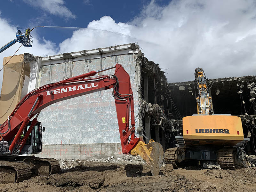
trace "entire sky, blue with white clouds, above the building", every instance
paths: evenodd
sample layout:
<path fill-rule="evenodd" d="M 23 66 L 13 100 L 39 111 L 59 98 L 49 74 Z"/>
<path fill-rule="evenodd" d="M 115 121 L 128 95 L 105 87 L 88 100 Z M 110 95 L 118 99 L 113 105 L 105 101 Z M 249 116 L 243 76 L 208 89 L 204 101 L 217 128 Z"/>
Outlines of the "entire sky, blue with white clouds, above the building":
<path fill-rule="evenodd" d="M 0 46 L 15 38 L 17 27 L 82 27 L 36 28 L 33 47 L 22 46 L 17 54 L 55 55 L 137 42 L 169 82 L 193 80 L 197 67 L 208 78 L 255 75 L 255 10 L 254 0 L 5 0 Z M 0 63 L 19 46 L 0 53 Z"/>

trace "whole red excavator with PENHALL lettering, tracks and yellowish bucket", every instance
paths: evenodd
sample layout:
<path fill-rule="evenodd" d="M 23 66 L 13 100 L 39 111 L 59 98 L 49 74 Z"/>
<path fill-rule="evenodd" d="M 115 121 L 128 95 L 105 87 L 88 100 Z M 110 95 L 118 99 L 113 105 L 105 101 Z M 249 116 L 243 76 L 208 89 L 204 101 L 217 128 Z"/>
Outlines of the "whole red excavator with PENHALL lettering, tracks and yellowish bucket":
<path fill-rule="evenodd" d="M 116 68 L 114 75 L 95 76 L 112 68 Z M 130 76 L 120 64 L 116 64 L 57 83 L 46 84 L 29 92 L 18 103 L 12 114 L 0 126 L 0 182 L 15 183 L 29 179 L 33 175 L 60 172 L 60 165 L 56 159 L 20 156 L 42 151 L 42 132 L 45 128 L 37 121 L 40 111 L 62 100 L 111 88 L 116 103 L 122 152 L 133 156 L 140 155 L 148 164 L 152 175 L 158 175 L 163 162 L 163 147 L 153 140 L 145 144 L 143 138 L 137 138 L 134 134 L 134 104 Z"/>

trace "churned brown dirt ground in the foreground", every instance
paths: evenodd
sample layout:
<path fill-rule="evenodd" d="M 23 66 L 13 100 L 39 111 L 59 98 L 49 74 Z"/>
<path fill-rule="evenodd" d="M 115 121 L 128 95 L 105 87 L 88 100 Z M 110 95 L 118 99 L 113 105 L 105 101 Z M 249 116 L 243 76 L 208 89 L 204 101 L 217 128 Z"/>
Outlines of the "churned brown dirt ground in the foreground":
<path fill-rule="evenodd" d="M 188 167 L 170 170 L 162 166 L 160 175 L 150 176 L 141 164 L 77 162 L 62 174 L 36 176 L 20 183 L 2 184 L 2 192 L 80 191 L 177 191 L 251 192 L 256 191 L 256 168 L 221 170 Z"/>

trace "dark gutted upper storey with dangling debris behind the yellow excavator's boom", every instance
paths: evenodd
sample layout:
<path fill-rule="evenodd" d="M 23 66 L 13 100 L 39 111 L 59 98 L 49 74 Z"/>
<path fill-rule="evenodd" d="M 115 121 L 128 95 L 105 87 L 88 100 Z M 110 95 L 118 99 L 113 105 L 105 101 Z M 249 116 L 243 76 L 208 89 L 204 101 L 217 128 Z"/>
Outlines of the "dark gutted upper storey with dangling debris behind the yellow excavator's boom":
<path fill-rule="evenodd" d="M 228 77 L 209 79 L 206 81 L 213 100 L 215 114 L 242 115 L 255 114 L 256 107 L 252 98 L 255 98 L 255 76 Z M 175 103 L 172 108 L 173 119 L 196 114 L 196 99 L 198 95 L 197 84 L 194 81 L 168 84 L 170 96 Z M 254 96 L 254 97 L 253 97 Z"/>

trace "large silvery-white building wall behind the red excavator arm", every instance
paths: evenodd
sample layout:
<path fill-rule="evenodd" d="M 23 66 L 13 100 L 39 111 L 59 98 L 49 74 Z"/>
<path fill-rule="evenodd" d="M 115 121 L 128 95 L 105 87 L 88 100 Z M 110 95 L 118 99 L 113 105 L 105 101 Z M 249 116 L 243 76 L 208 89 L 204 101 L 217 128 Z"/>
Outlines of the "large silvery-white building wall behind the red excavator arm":
<path fill-rule="evenodd" d="M 115 53 L 104 58 L 85 58 L 84 60 L 73 62 L 71 59 L 66 60 L 66 62 L 61 60 L 61 63 L 56 63 L 55 61 L 54 64 L 50 61 L 50 65 L 45 65 L 49 64 L 49 62 L 39 62 L 38 65 L 41 67 L 38 73 L 37 87 L 57 82 L 67 77 L 84 74 L 88 72 L 88 69 L 92 71 L 107 68 L 115 65 L 116 62 L 123 65 L 130 75 L 136 115 L 139 103 L 137 92 L 137 79 L 139 77 L 137 72 L 135 76 L 135 71 L 139 70 L 136 64 L 136 53 L 124 55 Z M 114 74 L 114 71 L 115 69 L 111 69 L 103 72 L 102 75 Z M 112 89 L 55 103 L 42 110 L 38 120 L 45 127 L 45 132 L 43 132 L 45 150 L 51 148 L 52 145 L 57 146 L 60 144 L 63 146 L 69 145 L 71 148 L 79 148 L 77 145 L 70 144 L 99 144 L 101 146 L 103 143 L 120 143 Z M 97 146 L 95 145 L 95 148 Z M 71 149 L 70 151 L 74 150 Z M 75 156 L 80 155 L 76 149 L 75 151 Z M 103 151 L 103 154 L 107 153 L 105 147 Z"/>

